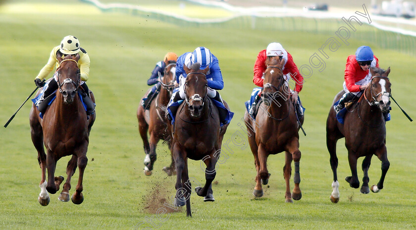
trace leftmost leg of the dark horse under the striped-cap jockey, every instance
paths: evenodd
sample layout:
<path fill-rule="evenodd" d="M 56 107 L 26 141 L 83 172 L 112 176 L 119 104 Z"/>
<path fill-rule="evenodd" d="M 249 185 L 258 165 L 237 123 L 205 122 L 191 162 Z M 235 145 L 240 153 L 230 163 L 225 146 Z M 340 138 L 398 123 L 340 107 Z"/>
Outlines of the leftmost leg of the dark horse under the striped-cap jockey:
<path fill-rule="evenodd" d="M 176 167 L 175 205 L 178 207 L 182 207 L 186 204 L 186 199 L 184 197 L 184 194 L 186 194 L 186 189 L 182 185 L 182 172 L 185 169 L 185 160 L 183 159 L 181 150 L 177 144 L 173 145 L 172 153 L 175 159 Z"/>

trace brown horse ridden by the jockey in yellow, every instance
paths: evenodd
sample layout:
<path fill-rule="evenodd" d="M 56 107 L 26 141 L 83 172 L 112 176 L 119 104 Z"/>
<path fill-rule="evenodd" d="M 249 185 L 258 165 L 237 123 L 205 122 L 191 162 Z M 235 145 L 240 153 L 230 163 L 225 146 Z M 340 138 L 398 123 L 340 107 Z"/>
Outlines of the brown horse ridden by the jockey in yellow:
<path fill-rule="evenodd" d="M 84 201 L 82 179 L 88 162 L 86 154 L 89 134 L 96 118 L 94 113 L 87 119 L 81 99 L 77 96 L 81 80 L 77 63 L 79 55 L 75 58 L 69 55 L 63 59 L 57 55 L 57 59 L 60 64 L 55 73 L 58 83 L 55 102 L 47 109 L 43 119 L 39 117 L 39 111 L 35 105 L 32 106 L 29 116 L 32 142 L 38 151 L 38 161 L 42 170 L 41 193 L 38 200 L 43 206 L 47 206 L 50 202 L 48 192 L 55 194 L 64 179 L 63 176 L 54 177 L 56 162 L 60 158 L 70 155 L 72 158 L 66 167 L 67 179 L 58 199 L 69 201 L 71 177 L 78 166 L 78 184 L 71 200 L 74 204 L 81 204 Z M 90 95 L 95 102 L 91 91 Z M 45 154 L 44 144 L 47 154 Z M 47 169 L 48 181 L 46 181 Z"/>

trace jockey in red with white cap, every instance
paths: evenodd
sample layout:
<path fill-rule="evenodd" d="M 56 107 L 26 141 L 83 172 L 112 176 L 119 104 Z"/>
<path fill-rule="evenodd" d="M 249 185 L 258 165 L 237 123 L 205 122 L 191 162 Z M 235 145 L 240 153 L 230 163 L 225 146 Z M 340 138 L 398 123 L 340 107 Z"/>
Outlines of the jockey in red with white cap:
<path fill-rule="evenodd" d="M 291 101 L 293 103 L 298 101 L 298 94 L 301 92 L 303 87 L 303 76 L 299 72 L 298 67 L 296 66 L 295 62 L 293 61 L 292 55 L 290 55 L 285 49 L 283 49 L 280 43 L 270 43 L 265 50 L 260 51 L 259 55 L 257 56 L 256 62 L 254 64 L 254 77 L 253 82 L 255 85 L 259 87 L 263 87 L 263 80 L 264 80 L 264 71 L 266 70 L 266 60 L 279 56 L 280 59 L 284 58 L 285 63 L 283 65 L 283 74 L 286 81 L 289 78 L 293 78 L 295 80 L 295 90 L 292 91 Z M 249 111 L 250 115 L 256 116 L 255 110 L 257 110 L 256 105 L 260 100 L 260 93 L 257 95 L 252 109 Z M 297 104 L 300 106 L 300 104 Z M 303 110 L 298 108 L 298 112 L 300 115 L 303 115 Z"/>

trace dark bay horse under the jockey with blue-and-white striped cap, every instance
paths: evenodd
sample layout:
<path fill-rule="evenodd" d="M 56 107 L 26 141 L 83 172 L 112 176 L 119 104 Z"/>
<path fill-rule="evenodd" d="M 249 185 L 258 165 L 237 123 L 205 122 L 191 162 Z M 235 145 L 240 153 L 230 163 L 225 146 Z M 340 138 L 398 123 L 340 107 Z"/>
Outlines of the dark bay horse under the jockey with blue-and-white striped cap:
<path fill-rule="evenodd" d="M 220 127 L 218 109 L 207 96 L 206 75 L 209 67 L 200 70 L 200 63 L 197 62 L 191 68 L 186 65 L 183 68 L 187 74 L 185 102 L 179 106 L 174 124 L 168 123 L 168 130 L 172 133 L 171 151 L 177 172 L 175 204 L 186 204 L 186 216 L 192 216 L 188 158 L 206 164 L 206 183 L 203 187 L 196 187 L 195 191 L 205 197 L 204 201 L 214 201 L 211 183 L 215 178 L 215 164 L 229 123 Z M 225 102 L 224 105 L 229 109 Z"/>

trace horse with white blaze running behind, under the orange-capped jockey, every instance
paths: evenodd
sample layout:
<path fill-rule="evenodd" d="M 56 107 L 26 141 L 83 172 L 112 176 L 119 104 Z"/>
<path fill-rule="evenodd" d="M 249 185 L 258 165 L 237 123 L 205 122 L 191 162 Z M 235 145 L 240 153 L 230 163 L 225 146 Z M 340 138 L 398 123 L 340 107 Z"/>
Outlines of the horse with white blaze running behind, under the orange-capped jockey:
<path fill-rule="evenodd" d="M 139 133 L 143 140 L 143 147 L 145 149 L 145 169 L 146 175 L 152 175 L 153 165 L 156 162 L 156 145 L 159 140 L 164 140 L 169 136 L 169 132 L 166 129 L 166 117 L 165 110 L 169 99 L 172 96 L 172 91 L 175 87 L 176 63 L 168 64 L 164 70 L 163 78 L 159 78 L 161 83 L 160 92 L 157 94 L 156 99 L 152 101 L 149 112 L 139 106 L 137 109 L 137 120 L 139 122 Z M 147 95 L 147 93 L 146 93 Z M 143 98 L 142 98 L 143 100 Z M 147 114 L 149 113 L 149 114 Z M 150 143 L 148 140 L 148 130 L 150 134 Z M 170 144 L 168 143 L 170 149 Z M 175 173 L 175 163 L 172 158 L 172 163 L 169 167 L 164 167 L 168 175 Z"/>

